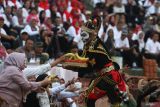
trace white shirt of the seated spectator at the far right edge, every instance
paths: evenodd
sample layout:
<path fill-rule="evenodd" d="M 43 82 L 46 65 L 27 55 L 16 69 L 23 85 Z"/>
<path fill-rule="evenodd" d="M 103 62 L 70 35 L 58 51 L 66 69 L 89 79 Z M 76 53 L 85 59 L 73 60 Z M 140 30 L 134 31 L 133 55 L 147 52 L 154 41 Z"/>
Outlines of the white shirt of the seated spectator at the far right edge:
<path fill-rule="evenodd" d="M 160 53 L 160 43 L 158 41 L 154 42 L 152 39 L 147 40 L 145 49 L 147 53 Z"/>

